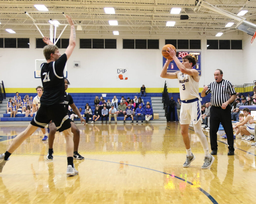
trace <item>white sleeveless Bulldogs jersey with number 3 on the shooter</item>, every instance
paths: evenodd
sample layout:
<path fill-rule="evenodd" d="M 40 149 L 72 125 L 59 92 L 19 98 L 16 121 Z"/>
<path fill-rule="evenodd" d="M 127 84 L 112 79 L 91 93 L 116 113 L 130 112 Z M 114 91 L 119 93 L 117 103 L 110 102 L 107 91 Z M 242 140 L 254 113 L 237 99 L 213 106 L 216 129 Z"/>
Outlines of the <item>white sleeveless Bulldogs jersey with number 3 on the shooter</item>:
<path fill-rule="evenodd" d="M 196 82 L 192 76 L 178 72 L 180 100 L 200 99 L 199 82 Z"/>

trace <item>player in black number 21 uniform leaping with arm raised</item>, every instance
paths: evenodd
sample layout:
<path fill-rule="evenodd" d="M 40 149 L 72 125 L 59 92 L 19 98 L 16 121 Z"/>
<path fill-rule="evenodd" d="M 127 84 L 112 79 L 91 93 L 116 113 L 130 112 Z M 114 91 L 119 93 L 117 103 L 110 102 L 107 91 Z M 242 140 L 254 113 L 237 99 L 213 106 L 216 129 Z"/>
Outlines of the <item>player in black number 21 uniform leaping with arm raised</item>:
<path fill-rule="evenodd" d="M 70 16 L 66 15 L 67 21 L 71 26 L 69 45 L 65 54 L 60 56 L 59 49 L 55 45 L 44 47 L 44 56 L 47 63 L 41 65 L 41 80 L 44 87 L 44 93 L 40 98 L 41 106 L 36 116 L 28 125 L 25 131 L 18 134 L 8 147 L 7 151 L 0 155 L 0 172 L 3 166 L 9 160 L 9 156 L 23 143 L 23 141 L 32 135 L 38 127 L 44 128 L 51 120 L 55 122 L 57 130 L 64 133 L 66 139 L 66 152 L 68 159 L 67 175 L 77 175 L 78 171 L 73 164 L 73 135 L 71 132 L 70 120 L 64 106 L 64 76 L 63 70 L 67 60 L 71 56 L 76 46 L 76 30 Z"/>

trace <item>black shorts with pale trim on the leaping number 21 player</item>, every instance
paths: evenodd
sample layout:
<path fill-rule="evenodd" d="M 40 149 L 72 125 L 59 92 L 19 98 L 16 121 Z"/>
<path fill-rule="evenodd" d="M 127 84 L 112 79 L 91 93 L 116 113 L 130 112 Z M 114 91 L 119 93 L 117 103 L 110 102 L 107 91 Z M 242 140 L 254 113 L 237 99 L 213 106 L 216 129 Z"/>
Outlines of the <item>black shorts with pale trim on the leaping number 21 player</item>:
<path fill-rule="evenodd" d="M 50 106 L 41 104 L 30 124 L 44 128 L 51 120 L 54 121 L 59 132 L 71 127 L 64 104 L 54 104 Z"/>

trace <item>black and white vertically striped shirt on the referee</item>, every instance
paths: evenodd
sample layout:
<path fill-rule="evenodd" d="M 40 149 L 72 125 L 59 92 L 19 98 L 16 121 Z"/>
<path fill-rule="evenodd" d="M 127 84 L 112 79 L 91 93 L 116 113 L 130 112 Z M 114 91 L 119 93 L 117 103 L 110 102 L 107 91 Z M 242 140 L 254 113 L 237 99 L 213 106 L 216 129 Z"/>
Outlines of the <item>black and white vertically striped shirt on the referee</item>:
<path fill-rule="evenodd" d="M 211 94 L 211 104 L 216 107 L 221 107 L 230 97 L 229 94 L 236 94 L 232 83 L 228 80 L 222 79 L 221 82 L 211 82 L 208 84 L 208 90 L 205 92 Z"/>

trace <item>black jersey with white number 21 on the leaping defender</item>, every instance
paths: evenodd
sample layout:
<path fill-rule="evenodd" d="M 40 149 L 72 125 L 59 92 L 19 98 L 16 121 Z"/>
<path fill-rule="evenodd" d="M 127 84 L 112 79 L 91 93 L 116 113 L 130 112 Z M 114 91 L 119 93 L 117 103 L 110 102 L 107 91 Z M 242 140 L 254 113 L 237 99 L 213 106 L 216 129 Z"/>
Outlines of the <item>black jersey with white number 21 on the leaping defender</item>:
<path fill-rule="evenodd" d="M 40 98 L 42 105 L 53 105 L 64 102 L 65 84 L 63 70 L 67 62 L 67 55 L 63 54 L 56 61 L 42 63 L 41 80 L 44 87 Z"/>

